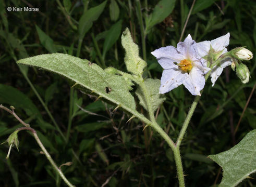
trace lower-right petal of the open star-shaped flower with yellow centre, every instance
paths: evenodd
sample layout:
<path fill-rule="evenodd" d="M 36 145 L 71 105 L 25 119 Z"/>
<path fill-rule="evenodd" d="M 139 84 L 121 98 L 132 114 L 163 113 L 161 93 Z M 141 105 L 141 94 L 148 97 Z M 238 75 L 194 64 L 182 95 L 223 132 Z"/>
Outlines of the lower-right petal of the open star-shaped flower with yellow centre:
<path fill-rule="evenodd" d="M 192 95 L 201 96 L 200 91 L 205 85 L 205 78 L 203 76 L 203 72 L 199 68 L 193 67 L 183 84 Z"/>

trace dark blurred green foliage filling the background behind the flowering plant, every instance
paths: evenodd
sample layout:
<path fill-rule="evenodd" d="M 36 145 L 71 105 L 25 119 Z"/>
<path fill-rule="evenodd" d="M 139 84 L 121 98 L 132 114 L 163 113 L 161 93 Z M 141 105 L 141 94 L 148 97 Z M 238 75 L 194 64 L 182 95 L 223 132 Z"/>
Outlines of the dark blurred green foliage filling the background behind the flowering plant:
<path fill-rule="evenodd" d="M 102 68 L 125 71 L 120 34 L 128 27 L 141 46 L 140 56 L 147 57 L 148 71 L 144 73 L 160 78 L 162 68 L 150 52 L 176 46 L 191 4 L 191 0 L 0 0 L 0 103 L 15 106 L 16 113 L 38 131 L 57 165 L 72 162 L 62 167 L 71 183 L 178 186 L 172 151 L 152 129 L 142 131 L 144 124 L 136 118 L 126 123 L 129 114 L 119 109 L 113 112 L 113 105 L 71 88 L 73 84 L 63 77 L 17 66 L 16 61 L 61 52 Z M 39 11 L 8 11 L 7 7 L 35 7 Z M 197 0 L 182 40 L 191 34 L 200 42 L 227 32 L 228 49 L 246 46 L 253 52 L 254 58 L 246 62 L 251 79 L 243 85 L 227 67 L 214 87 L 206 83 L 181 146 L 188 186 L 220 183 L 218 173 L 222 171 L 206 155 L 228 150 L 256 128 L 254 91 L 234 133 L 256 83 L 256 3 Z M 135 90 L 133 87 L 132 95 Z M 193 97 L 182 86 L 165 96 L 157 122 L 176 140 Z M 137 109 L 144 111 L 139 104 Z M 1 142 L 20 126 L 13 116 L 1 111 Z M 65 186 L 29 133 L 19 132 L 19 152 L 12 149 L 8 160 L 7 151 L 7 144 L 0 146 L 0 186 Z M 256 182 L 246 179 L 239 185 L 255 186 Z"/>

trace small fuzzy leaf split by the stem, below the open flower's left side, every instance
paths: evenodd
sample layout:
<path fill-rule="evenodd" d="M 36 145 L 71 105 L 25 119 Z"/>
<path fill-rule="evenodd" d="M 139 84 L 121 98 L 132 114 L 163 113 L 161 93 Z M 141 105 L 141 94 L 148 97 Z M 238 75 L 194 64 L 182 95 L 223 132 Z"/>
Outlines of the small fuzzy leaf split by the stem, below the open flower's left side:
<path fill-rule="evenodd" d="M 159 93 L 161 81 L 160 79 L 147 78 L 145 79 L 144 82 L 149 93 L 150 103 L 152 106 L 152 110 L 154 112 L 157 108 L 159 108 L 159 105 L 165 100 L 164 95 Z M 141 87 L 138 87 L 135 93 L 140 100 L 140 104 L 143 106 L 145 110 L 148 111 L 146 98 L 143 95 Z"/>

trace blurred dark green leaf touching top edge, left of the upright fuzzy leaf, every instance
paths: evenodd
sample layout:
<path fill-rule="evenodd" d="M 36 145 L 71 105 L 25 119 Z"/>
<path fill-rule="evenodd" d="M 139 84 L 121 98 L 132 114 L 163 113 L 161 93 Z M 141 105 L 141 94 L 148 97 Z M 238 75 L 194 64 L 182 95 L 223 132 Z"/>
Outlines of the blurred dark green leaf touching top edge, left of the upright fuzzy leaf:
<path fill-rule="evenodd" d="M 102 4 L 90 8 L 88 11 L 84 12 L 84 14 L 79 20 L 79 39 L 82 39 L 84 35 L 86 35 L 86 33 L 89 31 L 89 29 L 91 29 L 92 22 L 99 18 L 99 16 L 101 15 L 102 11 L 106 6 L 106 3 L 107 1 L 104 1 Z"/>

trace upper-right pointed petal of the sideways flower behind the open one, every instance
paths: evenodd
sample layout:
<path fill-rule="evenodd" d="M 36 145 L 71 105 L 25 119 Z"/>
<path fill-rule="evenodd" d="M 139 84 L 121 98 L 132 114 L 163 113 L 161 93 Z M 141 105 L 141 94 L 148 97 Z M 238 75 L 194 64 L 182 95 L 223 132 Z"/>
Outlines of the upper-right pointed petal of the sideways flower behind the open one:
<path fill-rule="evenodd" d="M 230 34 L 227 33 L 226 35 L 224 36 L 221 36 L 221 37 L 218 37 L 216 39 L 213 39 L 211 41 L 211 44 L 212 44 L 212 48 L 215 50 L 215 51 L 221 51 L 223 50 L 222 54 L 224 54 L 225 52 L 227 52 L 227 49 L 226 47 L 228 46 L 229 44 L 229 36 Z"/>

